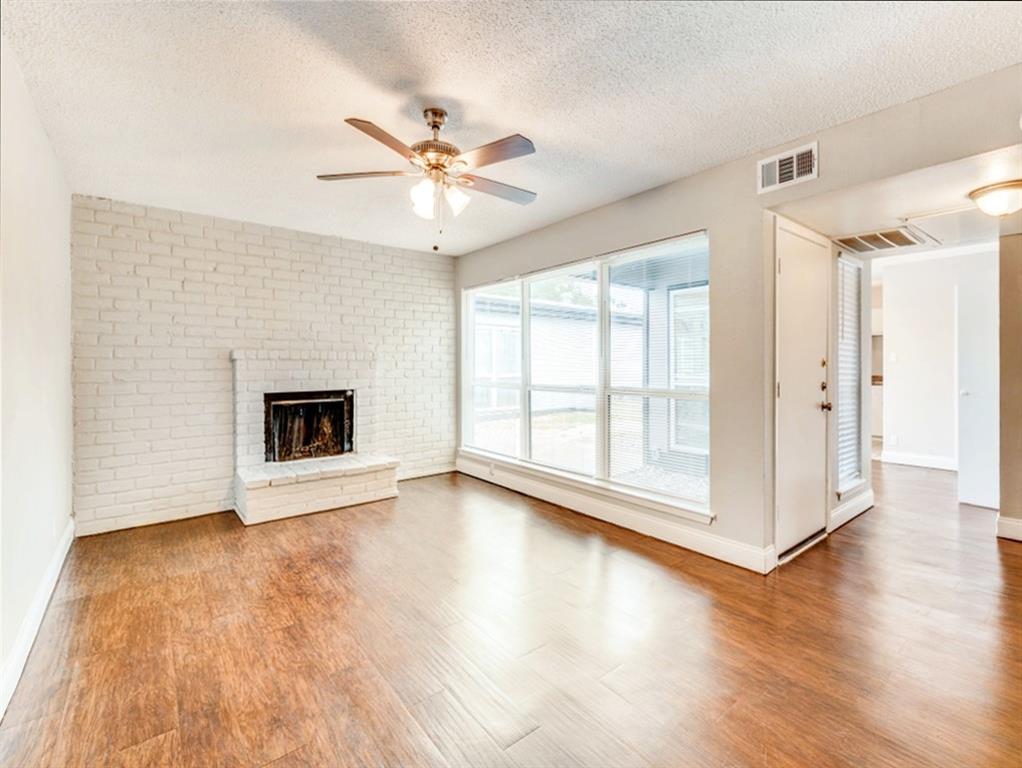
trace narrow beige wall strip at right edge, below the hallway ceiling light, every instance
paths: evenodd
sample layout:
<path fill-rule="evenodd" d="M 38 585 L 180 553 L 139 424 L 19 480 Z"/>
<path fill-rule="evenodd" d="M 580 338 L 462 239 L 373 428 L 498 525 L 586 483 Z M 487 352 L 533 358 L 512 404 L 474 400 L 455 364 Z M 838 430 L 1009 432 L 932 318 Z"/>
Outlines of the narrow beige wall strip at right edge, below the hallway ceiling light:
<path fill-rule="evenodd" d="M 1001 514 L 1022 518 L 1022 234 L 1001 237 Z"/>

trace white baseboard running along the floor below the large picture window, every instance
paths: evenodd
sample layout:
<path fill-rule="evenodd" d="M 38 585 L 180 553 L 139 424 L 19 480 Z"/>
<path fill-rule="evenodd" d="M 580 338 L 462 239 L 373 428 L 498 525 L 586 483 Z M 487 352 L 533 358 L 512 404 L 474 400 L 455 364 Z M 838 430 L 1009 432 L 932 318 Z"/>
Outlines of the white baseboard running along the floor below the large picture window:
<path fill-rule="evenodd" d="M 644 508 L 638 502 L 610 499 L 584 489 L 567 487 L 555 480 L 537 477 L 536 472 L 520 471 L 501 462 L 465 454 L 458 457 L 458 471 L 757 574 L 770 573 L 777 566 L 777 554 L 773 546 L 756 547 L 700 530 L 710 524 L 710 517 L 704 523 L 671 518 L 668 513 Z"/>

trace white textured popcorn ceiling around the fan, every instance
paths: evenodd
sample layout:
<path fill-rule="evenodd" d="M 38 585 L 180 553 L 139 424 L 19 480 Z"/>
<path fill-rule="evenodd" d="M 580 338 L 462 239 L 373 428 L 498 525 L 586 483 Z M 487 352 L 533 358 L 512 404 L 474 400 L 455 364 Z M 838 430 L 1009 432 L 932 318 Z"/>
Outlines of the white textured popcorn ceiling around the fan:
<path fill-rule="evenodd" d="M 1017 3 L 6 0 L 2 30 L 76 192 L 426 250 L 411 180 L 313 178 L 405 167 L 342 120 L 525 134 L 483 175 L 539 199 L 474 194 L 452 254 L 1022 59 Z"/>

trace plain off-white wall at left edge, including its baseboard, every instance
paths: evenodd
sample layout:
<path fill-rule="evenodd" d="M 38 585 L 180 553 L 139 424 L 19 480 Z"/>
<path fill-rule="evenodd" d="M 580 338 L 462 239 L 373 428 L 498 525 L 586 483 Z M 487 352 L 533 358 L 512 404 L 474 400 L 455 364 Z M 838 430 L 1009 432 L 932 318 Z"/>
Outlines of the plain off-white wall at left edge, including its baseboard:
<path fill-rule="evenodd" d="M 71 191 L 0 38 L 0 712 L 69 542 Z"/>

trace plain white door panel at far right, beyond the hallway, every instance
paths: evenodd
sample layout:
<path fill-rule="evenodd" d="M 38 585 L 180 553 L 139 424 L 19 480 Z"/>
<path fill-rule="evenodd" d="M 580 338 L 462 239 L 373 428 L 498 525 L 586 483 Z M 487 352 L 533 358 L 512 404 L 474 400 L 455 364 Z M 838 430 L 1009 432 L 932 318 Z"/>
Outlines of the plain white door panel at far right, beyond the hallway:
<path fill-rule="evenodd" d="M 958 282 L 959 501 L 1001 505 L 996 255 L 977 255 Z"/>

